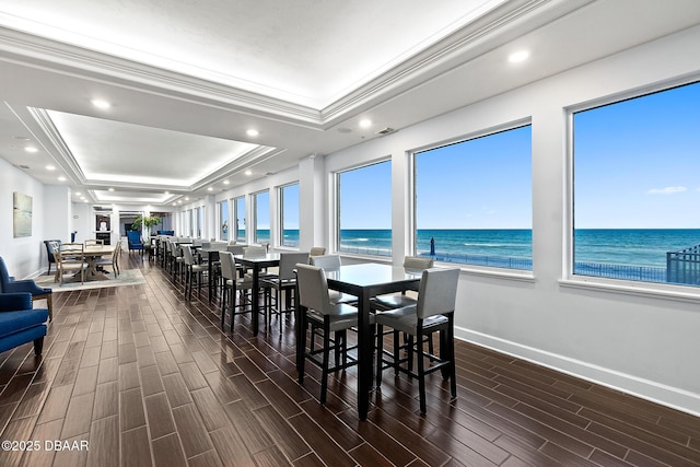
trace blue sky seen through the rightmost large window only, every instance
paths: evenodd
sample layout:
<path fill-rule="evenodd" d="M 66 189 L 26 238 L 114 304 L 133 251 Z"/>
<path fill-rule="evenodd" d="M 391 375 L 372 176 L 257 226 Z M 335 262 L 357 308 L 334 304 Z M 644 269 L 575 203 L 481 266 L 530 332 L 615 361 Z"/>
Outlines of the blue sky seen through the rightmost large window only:
<path fill-rule="evenodd" d="M 574 116 L 576 229 L 697 229 L 700 83 Z"/>

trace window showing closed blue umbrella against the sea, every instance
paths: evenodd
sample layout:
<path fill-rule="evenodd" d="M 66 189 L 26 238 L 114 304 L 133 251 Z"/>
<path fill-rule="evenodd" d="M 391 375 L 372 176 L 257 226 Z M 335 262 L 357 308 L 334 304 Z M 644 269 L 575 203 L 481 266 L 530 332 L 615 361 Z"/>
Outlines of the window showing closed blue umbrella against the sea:
<path fill-rule="evenodd" d="M 532 270 L 530 126 L 415 154 L 415 250 Z"/>

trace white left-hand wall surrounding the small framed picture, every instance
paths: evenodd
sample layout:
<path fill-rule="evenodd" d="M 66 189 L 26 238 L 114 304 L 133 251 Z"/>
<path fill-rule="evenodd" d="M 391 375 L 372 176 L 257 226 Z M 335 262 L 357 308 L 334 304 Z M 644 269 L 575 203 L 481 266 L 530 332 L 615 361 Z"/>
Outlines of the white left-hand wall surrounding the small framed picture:
<path fill-rule="evenodd" d="M 32 235 L 13 237 L 13 194 L 18 191 L 32 197 Z M 24 172 L 0 159 L 0 256 L 10 275 L 18 279 L 40 272 L 46 264 L 44 246 L 44 185 Z"/>

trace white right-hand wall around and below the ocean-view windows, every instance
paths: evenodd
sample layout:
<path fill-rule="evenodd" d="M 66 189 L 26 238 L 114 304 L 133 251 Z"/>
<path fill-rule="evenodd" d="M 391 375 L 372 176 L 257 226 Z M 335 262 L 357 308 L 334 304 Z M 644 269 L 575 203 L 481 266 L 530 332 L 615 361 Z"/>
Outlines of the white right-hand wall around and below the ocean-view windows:
<path fill-rule="evenodd" d="M 532 118 L 534 271 L 509 277 L 465 267 L 458 337 L 700 415 L 700 291 L 593 287 L 562 273 L 571 225 L 567 107 L 700 79 L 698 44 L 700 26 L 334 153 L 326 170 L 392 156 L 399 262 L 410 237 L 407 151 Z"/>

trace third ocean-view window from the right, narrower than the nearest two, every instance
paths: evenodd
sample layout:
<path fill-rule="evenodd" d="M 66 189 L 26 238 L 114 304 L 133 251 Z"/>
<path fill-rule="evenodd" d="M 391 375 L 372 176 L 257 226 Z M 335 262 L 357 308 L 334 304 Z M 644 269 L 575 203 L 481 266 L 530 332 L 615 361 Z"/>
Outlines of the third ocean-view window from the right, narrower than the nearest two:
<path fill-rule="evenodd" d="M 338 173 L 337 189 L 337 249 L 392 256 L 390 161 Z"/>

